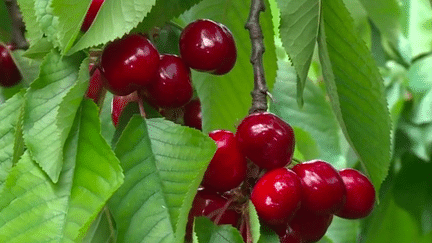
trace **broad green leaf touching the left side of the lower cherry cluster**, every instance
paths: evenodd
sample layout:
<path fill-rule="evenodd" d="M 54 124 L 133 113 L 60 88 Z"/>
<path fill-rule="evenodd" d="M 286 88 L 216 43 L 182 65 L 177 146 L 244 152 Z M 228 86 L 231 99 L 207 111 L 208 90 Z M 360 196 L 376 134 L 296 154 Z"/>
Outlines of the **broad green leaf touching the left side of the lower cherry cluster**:
<path fill-rule="evenodd" d="M 147 123 L 147 124 L 146 124 Z M 115 152 L 125 183 L 110 200 L 119 242 L 182 242 L 216 145 L 195 129 L 134 116 Z"/>

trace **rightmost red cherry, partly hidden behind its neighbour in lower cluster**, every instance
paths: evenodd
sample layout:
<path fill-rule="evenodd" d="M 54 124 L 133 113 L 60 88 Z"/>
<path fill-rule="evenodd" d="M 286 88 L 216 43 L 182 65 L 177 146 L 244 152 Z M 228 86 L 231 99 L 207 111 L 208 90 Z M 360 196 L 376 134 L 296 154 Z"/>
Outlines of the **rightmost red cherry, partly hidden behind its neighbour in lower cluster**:
<path fill-rule="evenodd" d="M 346 219 L 360 219 L 368 216 L 375 205 L 375 188 L 360 171 L 343 169 L 339 171 L 346 188 L 346 202 L 337 216 Z"/>

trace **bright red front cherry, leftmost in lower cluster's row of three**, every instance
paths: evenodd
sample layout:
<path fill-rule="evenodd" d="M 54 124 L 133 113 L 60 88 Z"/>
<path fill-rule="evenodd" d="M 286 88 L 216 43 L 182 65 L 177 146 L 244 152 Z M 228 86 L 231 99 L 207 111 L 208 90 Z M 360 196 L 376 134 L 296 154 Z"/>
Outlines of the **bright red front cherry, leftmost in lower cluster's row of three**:
<path fill-rule="evenodd" d="M 269 225 L 287 223 L 300 208 L 301 197 L 300 179 L 286 168 L 274 169 L 264 174 L 251 193 L 258 216 Z"/>

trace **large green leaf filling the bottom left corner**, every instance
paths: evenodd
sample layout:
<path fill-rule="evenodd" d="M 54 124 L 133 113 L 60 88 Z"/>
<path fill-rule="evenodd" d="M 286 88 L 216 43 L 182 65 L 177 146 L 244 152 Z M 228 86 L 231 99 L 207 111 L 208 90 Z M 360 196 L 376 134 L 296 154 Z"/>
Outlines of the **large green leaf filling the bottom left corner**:
<path fill-rule="evenodd" d="M 13 167 L 0 195 L 0 242 L 81 241 L 122 181 L 119 161 L 100 135 L 96 105 L 85 100 L 57 184 L 28 150 Z"/>

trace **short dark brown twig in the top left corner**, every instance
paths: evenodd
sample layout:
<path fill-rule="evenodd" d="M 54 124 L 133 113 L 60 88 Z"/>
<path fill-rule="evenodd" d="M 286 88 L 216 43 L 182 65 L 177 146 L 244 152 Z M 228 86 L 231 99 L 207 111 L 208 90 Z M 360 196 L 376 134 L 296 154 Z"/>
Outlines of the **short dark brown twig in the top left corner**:
<path fill-rule="evenodd" d="M 27 49 L 28 43 L 25 39 L 25 25 L 16 0 L 4 0 L 9 16 L 12 21 L 12 43 L 17 49 Z"/>

